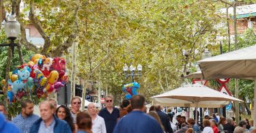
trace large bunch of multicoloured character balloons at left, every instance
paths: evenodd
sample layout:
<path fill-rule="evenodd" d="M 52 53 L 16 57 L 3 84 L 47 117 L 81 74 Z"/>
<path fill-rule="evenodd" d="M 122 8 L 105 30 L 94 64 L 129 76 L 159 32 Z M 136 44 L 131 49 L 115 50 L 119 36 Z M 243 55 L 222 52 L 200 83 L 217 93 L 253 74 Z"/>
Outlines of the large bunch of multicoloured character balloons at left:
<path fill-rule="evenodd" d="M 38 95 L 38 98 L 45 98 L 53 91 L 55 93 L 59 91 L 67 82 L 65 59 L 61 57 L 52 59 L 35 54 L 29 63 L 20 65 L 10 72 L 8 99 L 13 102 L 14 99 L 20 100 L 24 95 Z M 5 83 L 5 80 L 1 83 Z"/>

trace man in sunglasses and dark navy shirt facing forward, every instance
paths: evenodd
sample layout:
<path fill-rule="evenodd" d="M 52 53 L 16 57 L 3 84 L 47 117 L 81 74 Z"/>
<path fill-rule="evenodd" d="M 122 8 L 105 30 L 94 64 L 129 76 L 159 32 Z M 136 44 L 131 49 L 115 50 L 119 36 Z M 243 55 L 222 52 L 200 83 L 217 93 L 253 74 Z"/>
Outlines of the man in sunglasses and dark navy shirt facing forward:
<path fill-rule="evenodd" d="M 105 121 L 106 133 L 112 133 L 120 117 L 120 113 L 118 108 L 113 107 L 113 97 L 111 95 L 105 96 L 105 104 L 106 108 L 100 110 L 99 116 Z"/>

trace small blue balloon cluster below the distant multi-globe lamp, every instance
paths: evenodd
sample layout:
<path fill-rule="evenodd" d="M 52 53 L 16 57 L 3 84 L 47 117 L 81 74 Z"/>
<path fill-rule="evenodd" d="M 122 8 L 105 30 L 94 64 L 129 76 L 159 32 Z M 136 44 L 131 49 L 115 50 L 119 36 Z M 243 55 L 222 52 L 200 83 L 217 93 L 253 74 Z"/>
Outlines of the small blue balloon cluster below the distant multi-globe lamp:
<path fill-rule="evenodd" d="M 128 93 L 126 94 L 125 98 L 129 100 L 132 98 L 132 95 L 137 95 L 138 94 L 138 89 L 139 89 L 139 83 L 128 83 L 122 87 L 122 91 Z"/>

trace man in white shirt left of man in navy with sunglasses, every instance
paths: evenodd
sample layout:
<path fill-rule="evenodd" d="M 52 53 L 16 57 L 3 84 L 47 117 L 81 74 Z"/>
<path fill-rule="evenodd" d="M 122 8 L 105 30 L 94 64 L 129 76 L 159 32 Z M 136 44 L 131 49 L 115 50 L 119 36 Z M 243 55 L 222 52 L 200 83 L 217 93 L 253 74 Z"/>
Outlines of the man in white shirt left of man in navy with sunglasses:
<path fill-rule="evenodd" d="M 98 116 L 96 113 L 96 106 L 94 103 L 90 103 L 88 106 L 88 112 L 92 119 L 92 132 L 93 133 L 106 133 L 105 121 L 102 117 Z"/>

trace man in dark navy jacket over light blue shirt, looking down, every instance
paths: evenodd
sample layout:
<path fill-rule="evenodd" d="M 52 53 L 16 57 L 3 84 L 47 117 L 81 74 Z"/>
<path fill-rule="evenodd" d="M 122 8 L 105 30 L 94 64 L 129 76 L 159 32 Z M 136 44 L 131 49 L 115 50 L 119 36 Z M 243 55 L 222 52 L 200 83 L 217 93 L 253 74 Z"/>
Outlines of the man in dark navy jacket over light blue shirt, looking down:
<path fill-rule="evenodd" d="M 39 104 L 41 118 L 33 123 L 30 132 L 67 132 L 72 133 L 66 121 L 57 119 L 54 115 L 54 106 L 48 100 Z"/>

